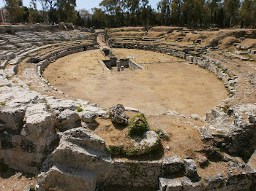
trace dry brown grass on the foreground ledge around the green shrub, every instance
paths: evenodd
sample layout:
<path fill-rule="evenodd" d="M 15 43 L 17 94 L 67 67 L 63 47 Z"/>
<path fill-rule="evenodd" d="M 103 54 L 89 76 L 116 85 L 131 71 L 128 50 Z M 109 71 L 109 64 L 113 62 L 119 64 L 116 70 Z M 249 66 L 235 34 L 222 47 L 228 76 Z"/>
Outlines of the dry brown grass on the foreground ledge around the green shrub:
<path fill-rule="evenodd" d="M 129 120 L 135 116 L 134 112 L 127 112 Z M 202 154 L 199 152 L 203 149 L 203 143 L 200 140 L 200 134 L 197 128 L 193 128 L 184 118 L 162 115 L 146 116 L 150 130 L 165 130 L 169 139 L 162 140 L 162 148 L 154 155 L 132 157 L 136 160 L 158 160 L 162 157 L 179 155 L 182 158 L 187 156 L 196 160 Z M 97 128 L 88 128 L 93 133 L 101 136 L 105 140 L 107 147 L 110 145 L 121 146 L 132 149 L 135 141 L 129 139 L 128 127 L 122 125 L 113 125 L 110 120 L 97 118 L 99 126 Z M 169 147 L 169 149 L 167 149 Z"/>

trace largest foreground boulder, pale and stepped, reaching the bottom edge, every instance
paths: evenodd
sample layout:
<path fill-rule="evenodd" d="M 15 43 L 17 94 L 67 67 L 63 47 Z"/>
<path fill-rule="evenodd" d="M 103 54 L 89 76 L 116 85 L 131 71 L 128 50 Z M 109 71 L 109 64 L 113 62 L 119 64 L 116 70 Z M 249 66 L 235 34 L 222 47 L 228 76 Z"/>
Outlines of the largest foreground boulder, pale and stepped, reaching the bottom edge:
<path fill-rule="evenodd" d="M 73 128 L 63 133 L 57 147 L 42 165 L 39 190 L 94 191 L 97 182 L 108 179 L 113 161 L 105 141 L 90 130 Z"/>

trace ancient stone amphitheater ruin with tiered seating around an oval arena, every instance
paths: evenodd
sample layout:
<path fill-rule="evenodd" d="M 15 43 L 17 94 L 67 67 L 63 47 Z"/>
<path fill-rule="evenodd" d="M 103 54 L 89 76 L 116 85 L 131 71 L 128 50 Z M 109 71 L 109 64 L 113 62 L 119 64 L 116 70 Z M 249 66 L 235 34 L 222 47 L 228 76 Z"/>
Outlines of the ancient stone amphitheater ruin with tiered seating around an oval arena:
<path fill-rule="evenodd" d="M 256 190 L 256 30 L 0 34 L 1 169 L 29 190 Z"/>

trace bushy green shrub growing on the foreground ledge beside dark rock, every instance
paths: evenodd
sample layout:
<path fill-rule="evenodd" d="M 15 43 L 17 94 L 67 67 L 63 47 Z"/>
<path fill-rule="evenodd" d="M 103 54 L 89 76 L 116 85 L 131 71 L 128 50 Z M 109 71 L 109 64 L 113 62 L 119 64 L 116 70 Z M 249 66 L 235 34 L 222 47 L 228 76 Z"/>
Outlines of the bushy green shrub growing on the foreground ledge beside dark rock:
<path fill-rule="evenodd" d="M 136 114 L 129 122 L 128 136 L 143 136 L 149 130 L 145 114 Z"/>

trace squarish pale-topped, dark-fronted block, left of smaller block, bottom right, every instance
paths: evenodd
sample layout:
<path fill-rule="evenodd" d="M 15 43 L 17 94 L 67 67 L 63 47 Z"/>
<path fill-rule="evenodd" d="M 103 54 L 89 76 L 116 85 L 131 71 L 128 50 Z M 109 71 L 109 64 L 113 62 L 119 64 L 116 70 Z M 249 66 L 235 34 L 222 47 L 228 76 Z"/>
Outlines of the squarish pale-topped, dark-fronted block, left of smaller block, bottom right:
<path fill-rule="evenodd" d="M 177 155 L 173 157 L 165 157 L 162 160 L 162 168 L 164 176 L 178 175 L 181 176 L 185 172 L 185 165 L 181 157 Z"/>

